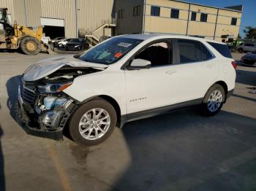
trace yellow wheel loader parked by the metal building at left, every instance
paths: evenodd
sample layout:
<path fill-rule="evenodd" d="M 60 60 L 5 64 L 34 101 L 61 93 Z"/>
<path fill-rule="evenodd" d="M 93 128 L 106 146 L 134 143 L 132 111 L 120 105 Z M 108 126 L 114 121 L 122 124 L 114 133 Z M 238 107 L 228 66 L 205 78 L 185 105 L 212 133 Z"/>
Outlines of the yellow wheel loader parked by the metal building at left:
<path fill-rule="evenodd" d="M 42 26 L 34 31 L 26 26 L 19 26 L 16 22 L 11 26 L 7 17 L 7 8 L 0 8 L 0 50 L 20 49 L 26 55 L 37 55 L 42 45 Z"/>

